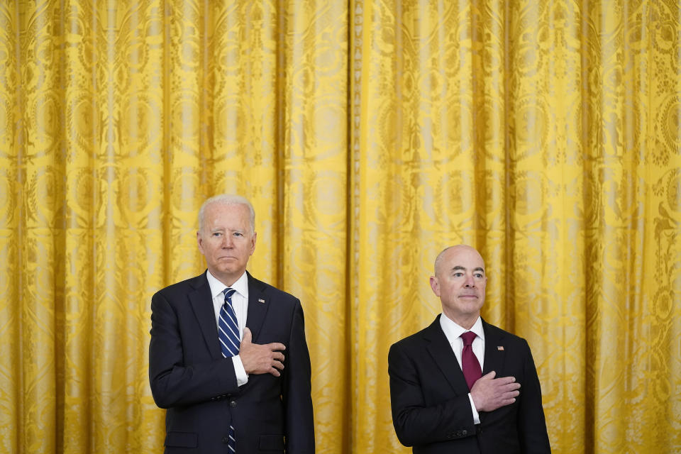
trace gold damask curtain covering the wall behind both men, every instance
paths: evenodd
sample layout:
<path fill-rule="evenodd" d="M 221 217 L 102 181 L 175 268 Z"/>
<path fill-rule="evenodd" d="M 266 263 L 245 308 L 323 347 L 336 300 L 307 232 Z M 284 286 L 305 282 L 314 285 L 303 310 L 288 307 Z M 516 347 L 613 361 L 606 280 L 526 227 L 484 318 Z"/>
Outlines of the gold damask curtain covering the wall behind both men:
<path fill-rule="evenodd" d="M 257 212 L 319 453 L 407 453 L 387 350 L 479 248 L 555 453 L 681 450 L 676 0 L 0 3 L 0 450 L 158 453 L 150 296 Z"/>

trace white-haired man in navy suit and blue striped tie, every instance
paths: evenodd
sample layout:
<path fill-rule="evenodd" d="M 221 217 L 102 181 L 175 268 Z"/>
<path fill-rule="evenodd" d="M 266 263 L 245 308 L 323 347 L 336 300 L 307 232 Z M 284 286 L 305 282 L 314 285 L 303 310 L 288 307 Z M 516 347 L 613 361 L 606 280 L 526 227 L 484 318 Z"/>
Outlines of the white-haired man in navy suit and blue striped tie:
<path fill-rule="evenodd" d="M 166 453 L 314 453 L 303 310 L 246 272 L 255 250 L 248 200 L 199 211 L 208 270 L 151 301 L 149 379 L 167 409 Z"/>

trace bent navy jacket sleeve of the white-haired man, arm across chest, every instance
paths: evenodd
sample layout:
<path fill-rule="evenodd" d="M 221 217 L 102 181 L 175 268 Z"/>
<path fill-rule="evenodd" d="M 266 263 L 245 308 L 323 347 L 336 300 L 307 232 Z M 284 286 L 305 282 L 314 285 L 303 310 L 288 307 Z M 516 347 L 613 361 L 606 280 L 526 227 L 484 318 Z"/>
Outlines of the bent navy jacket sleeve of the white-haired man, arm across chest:
<path fill-rule="evenodd" d="M 161 293 L 155 294 L 151 299 L 149 381 L 157 406 L 167 409 L 218 400 L 238 391 L 231 358 L 206 356 L 193 361 L 185 357 L 184 347 L 179 314 Z"/>

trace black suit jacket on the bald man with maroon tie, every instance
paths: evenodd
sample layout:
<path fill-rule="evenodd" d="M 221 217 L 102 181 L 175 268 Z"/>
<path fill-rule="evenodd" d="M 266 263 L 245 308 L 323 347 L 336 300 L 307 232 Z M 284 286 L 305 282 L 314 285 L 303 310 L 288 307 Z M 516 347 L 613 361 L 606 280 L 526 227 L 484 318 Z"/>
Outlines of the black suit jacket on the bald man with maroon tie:
<path fill-rule="evenodd" d="M 485 375 L 516 377 L 514 404 L 480 412 L 475 426 L 468 386 L 440 326 L 394 343 L 388 353 L 392 421 L 397 438 L 414 453 L 550 453 L 541 389 L 523 338 L 482 321 Z M 500 349 L 502 347 L 503 349 Z"/>

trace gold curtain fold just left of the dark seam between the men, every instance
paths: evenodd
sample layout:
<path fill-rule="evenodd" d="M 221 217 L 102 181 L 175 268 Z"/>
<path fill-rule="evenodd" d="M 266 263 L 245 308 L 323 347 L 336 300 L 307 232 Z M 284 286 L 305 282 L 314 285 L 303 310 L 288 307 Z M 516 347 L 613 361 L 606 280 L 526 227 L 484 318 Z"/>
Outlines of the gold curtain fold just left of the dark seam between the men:
<path fill-rule="evenodd" d="M 317 451 L 348 452 L 348 6 L 286 1 L 279 62 L 280 287 L 305 311 Z"/>

